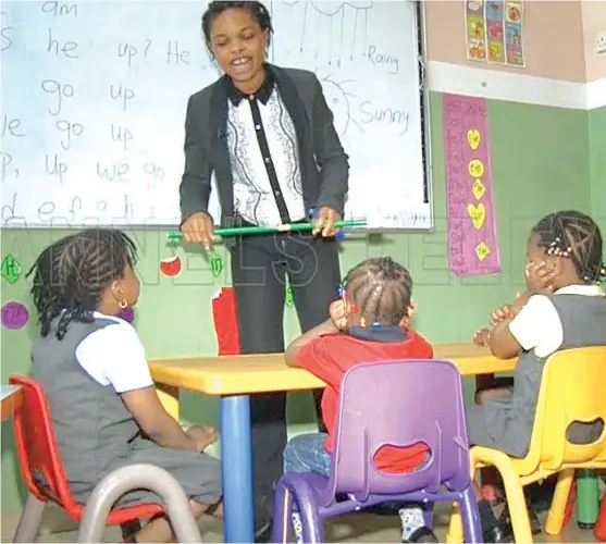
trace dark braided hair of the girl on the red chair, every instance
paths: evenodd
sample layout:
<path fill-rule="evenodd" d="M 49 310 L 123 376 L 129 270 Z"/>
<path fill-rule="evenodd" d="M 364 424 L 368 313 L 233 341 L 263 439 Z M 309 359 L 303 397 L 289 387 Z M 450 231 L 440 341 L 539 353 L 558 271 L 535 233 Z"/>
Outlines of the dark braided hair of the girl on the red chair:
<path fill-rule="evenodd" d="M 27 272 L 27 277 L 34 274 L 30 293 L 41 335 L 49 334 L 58 316 L 58 339 L 72 321 L 92 322 L 103 290 L 136 260 L 134 242 L 111 228 L 87 228 L 47 247 Z"/>

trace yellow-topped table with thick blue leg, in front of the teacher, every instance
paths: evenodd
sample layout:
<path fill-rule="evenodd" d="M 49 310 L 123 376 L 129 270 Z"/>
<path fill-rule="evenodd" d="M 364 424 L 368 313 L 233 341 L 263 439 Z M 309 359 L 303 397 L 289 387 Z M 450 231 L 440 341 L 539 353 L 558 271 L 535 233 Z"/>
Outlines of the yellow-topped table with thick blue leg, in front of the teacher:
<path fill-rule="evenodd" d="M 516 361 L 493 357 L 473 344 L 434 346 L 436 359 L 455 362 L 462 375 L 511 372 Z M 150 360 L 151 375 L 166 409 L 178 418 L 180 390 L 221 397 L 219 426 L 225 542 L 253 542 L 250 399 L 255 393 L 302 391 L 325 384 L 286 366 L 283 354 Z"/>

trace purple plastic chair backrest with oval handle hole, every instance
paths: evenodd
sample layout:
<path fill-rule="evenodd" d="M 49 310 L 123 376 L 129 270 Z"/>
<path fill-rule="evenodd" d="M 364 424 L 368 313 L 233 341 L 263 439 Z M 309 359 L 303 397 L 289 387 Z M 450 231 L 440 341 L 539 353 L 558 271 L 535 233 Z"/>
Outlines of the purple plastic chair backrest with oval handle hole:
<path fill-rule="evenodd" d="M 462 381 L 445 360 L 358 364 L 344 376 L 327 493 L 395 494 L 441 485 L 460 491 L 470 482 Z M 424 443 L 431 458 L 422 469 L 379 471 L 373 458 L 383 446 Z M 334 496 L 334 495 L 333 495 Z"/>

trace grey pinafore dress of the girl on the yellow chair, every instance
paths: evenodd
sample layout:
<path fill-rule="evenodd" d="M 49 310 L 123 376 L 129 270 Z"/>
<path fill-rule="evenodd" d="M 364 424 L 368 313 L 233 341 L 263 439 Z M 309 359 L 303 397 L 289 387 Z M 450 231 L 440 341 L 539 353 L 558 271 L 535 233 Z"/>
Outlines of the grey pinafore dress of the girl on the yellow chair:
<path fill-rule="evenodd" d="M 564 330 L 559 350 L 606 345 L 606 297 L 549 295 L 549 300 Z M 466 407 L 471 445 L 500 449 L 514 457 L 525 456 L 546 359 L 537 357 L 534 350 L 522 353 L 514 373 L 511 397 Z M 603 429 L 602 422 L 593 425 L 576 423 L 569 430 L 569 440 L 588 444 L 596 441 Z"/>

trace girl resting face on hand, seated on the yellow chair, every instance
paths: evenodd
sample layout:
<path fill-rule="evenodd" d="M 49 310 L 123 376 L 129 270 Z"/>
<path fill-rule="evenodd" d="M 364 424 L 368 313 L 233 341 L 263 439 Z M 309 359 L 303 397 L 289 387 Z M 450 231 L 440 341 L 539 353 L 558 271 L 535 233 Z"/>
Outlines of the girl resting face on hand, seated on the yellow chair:
<path fill-rule="evenodd" d="M 530 447 L 546 359 L 562 349 L 606 345 L 602 251 L 599 227 L 579 211 L 551 213 L 532 228 L 525 293 L 512 305 L 495 310 L 492 330 L 479 331 L 474 337 L 477 344 L 490 346 L 496 357 L 519 359 L 506 386 L 478 392 L 478 406 L 468 407 L 471 444 L 523 457 Z M 568 440 L 592 443 L 603 431 L 604 421 L 577 422 L 568 430 Z M 480 516 L 484 526 L 495 526 L 490 505 L 483 500 Z M 505 536 L 510 528 L 500 524 L 500 530 Z M 495 540 L 485 536 L 485 542 Z"/>

